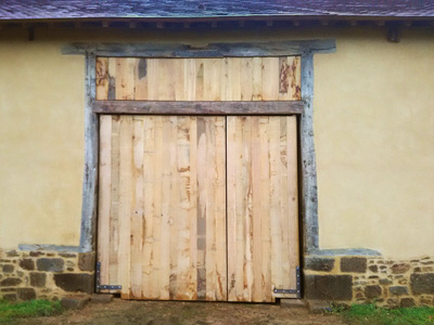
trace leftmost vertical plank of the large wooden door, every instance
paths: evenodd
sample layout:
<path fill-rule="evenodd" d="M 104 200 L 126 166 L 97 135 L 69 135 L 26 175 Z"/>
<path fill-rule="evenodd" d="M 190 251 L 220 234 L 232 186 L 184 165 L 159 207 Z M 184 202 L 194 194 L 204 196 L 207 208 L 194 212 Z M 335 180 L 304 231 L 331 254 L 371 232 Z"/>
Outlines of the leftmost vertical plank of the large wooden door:
<path fill-rule="evenodd" d="M 101 263 L 101 283 L 110 283 L 110 216 L 112 192 L 112 116 L 100 117 L 98 261 Z"/>

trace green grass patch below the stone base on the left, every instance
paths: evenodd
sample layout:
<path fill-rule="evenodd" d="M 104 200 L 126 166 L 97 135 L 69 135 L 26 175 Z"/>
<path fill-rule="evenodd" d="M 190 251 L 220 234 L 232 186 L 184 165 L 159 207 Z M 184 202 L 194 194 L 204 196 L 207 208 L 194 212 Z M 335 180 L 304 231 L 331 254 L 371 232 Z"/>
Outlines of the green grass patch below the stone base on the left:
<path fill-rule="evenodd" d="M 60 301 L 30 300 L 16 303 L 0 301 L 0 323 L 23 317 L 49 316 L 61 311 Z"/>

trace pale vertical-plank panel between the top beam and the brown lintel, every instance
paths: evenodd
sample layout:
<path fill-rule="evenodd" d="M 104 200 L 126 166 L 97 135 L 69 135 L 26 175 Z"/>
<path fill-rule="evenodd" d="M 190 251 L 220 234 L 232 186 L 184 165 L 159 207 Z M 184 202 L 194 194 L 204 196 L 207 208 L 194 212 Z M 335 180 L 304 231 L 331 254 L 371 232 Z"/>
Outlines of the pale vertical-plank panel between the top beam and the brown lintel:
<path fill-rule="evenodd" d="M 117 101 L 298 101 L 297 57 L 98 57 L 97 99 L 112 82 Z"/>

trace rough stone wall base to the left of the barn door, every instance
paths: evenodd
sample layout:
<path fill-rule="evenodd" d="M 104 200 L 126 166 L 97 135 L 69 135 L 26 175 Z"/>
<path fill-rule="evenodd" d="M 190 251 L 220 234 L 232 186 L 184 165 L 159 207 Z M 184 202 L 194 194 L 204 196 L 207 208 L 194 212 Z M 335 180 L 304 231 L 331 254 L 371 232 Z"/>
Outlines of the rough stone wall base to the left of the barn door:
<path fill-rule="evenodd" d="M 0 299 L 58 300 L 94 290 L 94 252 L 0 251 Z"/>

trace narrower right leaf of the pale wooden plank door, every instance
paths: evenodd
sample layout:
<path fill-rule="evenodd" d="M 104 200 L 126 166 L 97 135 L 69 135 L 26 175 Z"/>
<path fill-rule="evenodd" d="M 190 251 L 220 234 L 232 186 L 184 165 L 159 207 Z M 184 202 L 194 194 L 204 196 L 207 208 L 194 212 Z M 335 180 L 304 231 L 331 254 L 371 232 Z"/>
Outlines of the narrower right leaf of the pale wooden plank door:
<path fill-rule="evenodd" d="M 227 123 L 228 299 L 271 302 L 273 288 L 296 288 L 296 119 L 230 116 Z"/>

